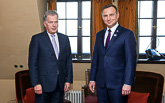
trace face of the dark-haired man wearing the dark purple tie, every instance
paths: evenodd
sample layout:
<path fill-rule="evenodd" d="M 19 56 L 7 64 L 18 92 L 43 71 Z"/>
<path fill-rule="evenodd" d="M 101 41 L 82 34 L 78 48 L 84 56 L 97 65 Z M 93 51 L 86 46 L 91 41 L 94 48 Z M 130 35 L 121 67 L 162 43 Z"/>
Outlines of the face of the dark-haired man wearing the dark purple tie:
<path fill-rule="evenodd" d="M 111 29 L 118 22 L 119 12 L 116 13 L 114 7 L 109 7 L 103 10 L 102 17 L 104 23 Z"/>

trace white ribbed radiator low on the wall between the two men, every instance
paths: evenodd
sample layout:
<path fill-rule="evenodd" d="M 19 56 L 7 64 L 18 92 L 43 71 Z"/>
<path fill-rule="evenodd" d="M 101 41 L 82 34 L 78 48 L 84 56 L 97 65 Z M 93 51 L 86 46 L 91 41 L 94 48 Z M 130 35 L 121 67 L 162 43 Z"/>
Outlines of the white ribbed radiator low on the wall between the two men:
<path fill-rule="evenodd" d="M 68 91 L 65 93 L 65 99 L 72 103 L 82 103 L 82 91 Z"/>

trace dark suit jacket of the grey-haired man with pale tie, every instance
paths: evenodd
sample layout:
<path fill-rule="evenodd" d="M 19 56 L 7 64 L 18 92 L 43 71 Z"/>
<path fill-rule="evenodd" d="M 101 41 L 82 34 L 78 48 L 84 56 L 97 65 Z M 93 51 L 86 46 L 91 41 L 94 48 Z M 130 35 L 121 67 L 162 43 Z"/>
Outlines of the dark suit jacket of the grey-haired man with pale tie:
<path fill-rule="evenodd" d="M 58 60 L 46 31 L 34 35 L 29 46 L 28 65 L 31 84 L 32 86 L 41 84 L 45 92 L 55 89 L 58 78 L 61 90 L 64 90 L 65 82 L 73 82 L 69 39 L 61 33 L 57 33 L 57 35 L 60 48 Z"/>

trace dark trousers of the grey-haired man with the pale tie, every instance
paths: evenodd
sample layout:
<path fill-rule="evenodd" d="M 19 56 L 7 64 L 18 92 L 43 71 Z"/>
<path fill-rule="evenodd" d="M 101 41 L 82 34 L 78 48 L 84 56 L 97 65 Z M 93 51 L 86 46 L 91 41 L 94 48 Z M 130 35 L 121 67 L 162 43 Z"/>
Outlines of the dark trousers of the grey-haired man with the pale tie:
<path fill-rule="evenodd" d="M 64 90 L 59 87 L 59 80 L 56 89 L 52 92 L 43 92 L 42 95 L 35 94 L 35 103 L 63 103 Z"/>

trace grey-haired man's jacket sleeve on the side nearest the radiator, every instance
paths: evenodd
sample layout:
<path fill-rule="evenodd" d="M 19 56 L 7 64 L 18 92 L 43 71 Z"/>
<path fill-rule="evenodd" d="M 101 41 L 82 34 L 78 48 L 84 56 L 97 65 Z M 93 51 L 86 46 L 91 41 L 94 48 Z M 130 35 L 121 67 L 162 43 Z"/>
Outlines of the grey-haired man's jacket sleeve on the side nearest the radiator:
<path fill-rule="evenodd" d="M 66 82 L 73 83 L 73 66 L 72 66 L 72 53 L 69 38 L 67 37 L 67 80 Z"/>

